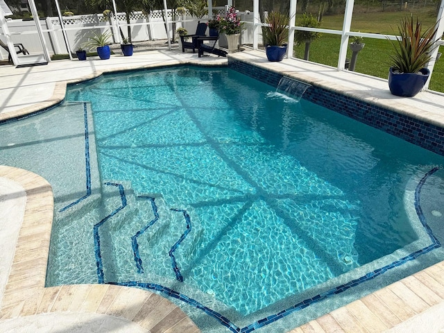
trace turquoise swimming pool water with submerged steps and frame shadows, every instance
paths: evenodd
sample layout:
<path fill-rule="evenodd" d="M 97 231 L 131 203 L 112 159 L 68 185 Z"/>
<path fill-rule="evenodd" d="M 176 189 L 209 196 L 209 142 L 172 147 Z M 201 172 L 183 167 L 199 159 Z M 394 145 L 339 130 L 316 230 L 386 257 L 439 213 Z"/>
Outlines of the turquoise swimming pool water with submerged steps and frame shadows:
<path fill-rule="evenodd" d="M 119 96 L 122 82 L 129 88 Z M 156 284 L 248 326 L 332 287 L 345 292 L 348 281 L 431 242 L 414 193 L 422 179 L 441 186 L 441 171 L 423 178 L 441 156 L 226 69 L 86 85 L 67 99 L 92 101 L 96 133 L 85 137 L 96 140 L 105 205 L 74 224 L 75 205 L 59 203 L 64 237 L 53 236 L 51 253 L 62 260 L 51 256 L 49 284 Z M 88 108 L 72 103 L 61 113 L 74 127 L 88 123 Z M 114 246 L 116 237 L 126 246 Z"/>

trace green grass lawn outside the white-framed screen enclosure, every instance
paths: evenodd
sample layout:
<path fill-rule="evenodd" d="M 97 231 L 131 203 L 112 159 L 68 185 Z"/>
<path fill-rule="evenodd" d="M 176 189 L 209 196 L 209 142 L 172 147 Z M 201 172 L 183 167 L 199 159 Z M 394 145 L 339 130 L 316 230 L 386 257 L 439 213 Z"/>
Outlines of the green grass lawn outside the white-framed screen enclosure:
<path fill-rule="evenodd" d="M 357 13 L 353 15 L 351 30 L 395 35 L 393 29 L 396 29 L 396 24 L 404 15 L 406 15 L 406 12 Z M 427 12 L 419 13 L 418 17 L 423 22 L 424 27 L 431 26 L 436 19 Z M 342 24 L 343 15 L 324 16 L 321 28 L 341 30 Z M 337 67 L 340 42 L 341 36 L 323 33 L 320 39 L 311 43 L 309 60 Z M 388 40 L 365 38 L 364 43 L 366 46 L 359 52 L 355 71 L 379 78 L 388 78 L 388 61 L 393 51 L 391 42 Z M 296 58 L 303 58 L 304 49 L 305 45 L 295 46 L 294 56 Z M 440 51 L 444 53 L 444 46 L 441 46 Z M 347 58 L 350 59 L 351 56 L 352 52 L 349 49 Z M 444 57 L 436 62 L 429 89 L 444 92 Z"/>

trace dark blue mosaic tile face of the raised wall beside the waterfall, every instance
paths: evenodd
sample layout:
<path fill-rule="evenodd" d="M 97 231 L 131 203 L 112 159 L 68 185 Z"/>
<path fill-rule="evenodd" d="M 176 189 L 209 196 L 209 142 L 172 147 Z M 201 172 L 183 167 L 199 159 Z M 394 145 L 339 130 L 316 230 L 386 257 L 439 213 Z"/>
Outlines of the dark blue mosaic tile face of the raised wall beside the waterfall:
<path fill-rule="evenodd" d="M 273 87 L 278 87 L 283 77 L 277 72 L 232 58 L 228 58 L 228 68 Z M 321 87 L 309 87 L 302 98 L 444 156 L 442 127 Z"/>

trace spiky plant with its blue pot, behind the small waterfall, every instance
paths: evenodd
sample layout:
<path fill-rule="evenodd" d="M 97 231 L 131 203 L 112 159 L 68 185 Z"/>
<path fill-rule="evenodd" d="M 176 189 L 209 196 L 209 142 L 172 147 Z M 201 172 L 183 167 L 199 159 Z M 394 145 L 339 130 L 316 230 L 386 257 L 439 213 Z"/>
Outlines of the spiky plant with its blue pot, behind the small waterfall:
<path fill-rule="evenodd" d="M 287 53 L 287 40 L 289 37 L 289 15 L 282 12 L 269 12 L 265 19 L 268 26 L 262 27 L 266 58 L 269 61 L 282 61 Z"/>

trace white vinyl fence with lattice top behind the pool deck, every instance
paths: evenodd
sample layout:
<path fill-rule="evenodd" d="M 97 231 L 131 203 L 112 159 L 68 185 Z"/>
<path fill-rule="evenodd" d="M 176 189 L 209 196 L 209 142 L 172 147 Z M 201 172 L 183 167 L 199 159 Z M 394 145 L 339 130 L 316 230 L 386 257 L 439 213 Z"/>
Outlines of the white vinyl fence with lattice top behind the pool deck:
<path fill-rule="evenodd" d="M 213 8 L 214 14 L 225 15 L 225 7 Z M 194 33 L 198 21 L 191 17 L 187 11 L 185 15 L 173 17 L 173 10 L 168 10 L 169 19 L 169 36 L 173 36 L 173 24 L 176 23 L 176 28 L 182 26 Z M 242 32 L 242 44 L 253 44 L 253 13 L 241 12 L 241 19 L 246 21 L 244 31 Z M 127 24 L 125 13 L 118 13 L 117 19 L 119 26 L 123 31 L 123 35 L 127 35 Z M 203 17 L 202 22 L 207 22 L 208 17 Z M 117 22 L 114 17 L 104 17 L 103 14 L 92 15 L 76 15 L 70 17 L 63 17 L 63 24 L 67 32 L 67 38 L 71 51 L 74 52 L 78 47 L 87 42 L 87 37 L 92 35 L 92 31 L 96 33 L 103 33 L 110 31 L 112 33 L 112 42 L 119 43 L 120 35 L 117 28 Z M 44 38 L 50 55 L 66 54 L 67 48 L 62 34 L 62 26 L 58 17 L 46 17 L 40 19 L 40 26 L 44 32 Z M 131 38 L 133 42 L 142 42 L 146 40 L 166 40 L 167 33 L 165 31 L 164 19 L 162 10 L 155 10 L 148 16 L 143 12 L 133 12 L 130 15 Z M 37 30 L 33 20 L 23 21 L 22 19 L 9 19 L 8 28 L 12 36 L 14 44 L 21 43 L 31 53 L 41 53 L 42 45 L 37 37 Z M 3 33 L 0 34 L 1 40 L 6 42 Z M 8 59 L 6 50 L 0 48 L 1 60 Z"/>

